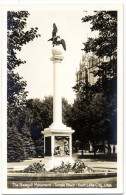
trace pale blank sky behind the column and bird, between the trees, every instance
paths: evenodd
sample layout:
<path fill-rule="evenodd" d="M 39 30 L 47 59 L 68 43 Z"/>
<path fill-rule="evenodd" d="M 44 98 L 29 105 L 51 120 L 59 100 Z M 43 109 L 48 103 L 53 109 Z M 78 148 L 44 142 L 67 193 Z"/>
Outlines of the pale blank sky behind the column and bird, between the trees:
<path fill-rule="evenodd" d="M 30 16 L 27 19 L 27 29 L 38 27 L 41 35 L 23 46 L 17 54 L 17 57 L 26 61 L 16 71 L 27 81 L 28 98 L 44 99 L 45 96 L 53 95 L 53 64 L 50 61 L 52 42 L 47 40 L 52 36 L 53 23 L 56 23 L 57 35 L 65 40 L 67 47 L 61 64 L 62 97 L 73 103 L 75 92 L 72 87 L 76 84 L 76 70 L 82 59 L 82 43 L 86 42 L 88 36 L 95 35 L 91 33 L 89 23 L 82 23 L 81 18 L 87 13 L 83 7 L 77 6 L 50 6 L 28 12 Z"/>

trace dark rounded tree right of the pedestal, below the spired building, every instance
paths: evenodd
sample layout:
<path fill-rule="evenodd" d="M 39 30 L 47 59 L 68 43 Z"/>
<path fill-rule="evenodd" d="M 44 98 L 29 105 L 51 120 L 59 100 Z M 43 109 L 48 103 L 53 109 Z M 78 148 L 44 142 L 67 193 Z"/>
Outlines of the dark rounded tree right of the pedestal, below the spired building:
<path fill-rule="evenodd" d="M 103 120 L 109 117 L 109 104 L 102 93 L 95 93 L 87 103 L 86 99 L 77 98 L 69 117 L 70 126 L 75 129 L 74 140 L 81 142 L 82 155 L 84 149 L 91 142 L 96 154 L 97 144 L 110 140 L 111 132 L 102 125 Z"/>

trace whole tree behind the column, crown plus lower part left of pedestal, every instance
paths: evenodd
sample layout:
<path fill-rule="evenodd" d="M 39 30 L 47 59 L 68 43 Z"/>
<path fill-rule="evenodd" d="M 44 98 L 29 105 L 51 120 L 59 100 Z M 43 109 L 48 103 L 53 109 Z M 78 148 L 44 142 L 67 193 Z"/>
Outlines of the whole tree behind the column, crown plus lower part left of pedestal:
<path fill-rule="evenodd" d="M 62 99 L 62 107 L 63 123 L 68 125 L 71 105 L 68 104 L 65 98 Z M 44 140 L 42 131 L 53 122 L 53 97 L 48 96 L 43 100 L 27 100 L 24 112 L 26 112 L 25 123 L 30 129 L 36 153 L 38 156 L 43 156 Z"/>

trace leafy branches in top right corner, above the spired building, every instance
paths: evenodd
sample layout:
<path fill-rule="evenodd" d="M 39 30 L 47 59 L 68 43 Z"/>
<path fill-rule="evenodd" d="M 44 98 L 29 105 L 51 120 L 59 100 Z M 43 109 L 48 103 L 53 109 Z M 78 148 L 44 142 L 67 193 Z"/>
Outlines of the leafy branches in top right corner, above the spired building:
<path fill-rule="evenodd" d="M 117 11 L 96 11 L 82 18 L 82 22 L 90 22 L 91 30 L 99 32 L 98 38 L 88 38 L 84 50 L 99 57 L 111 57 L 117 50 Z"/>

